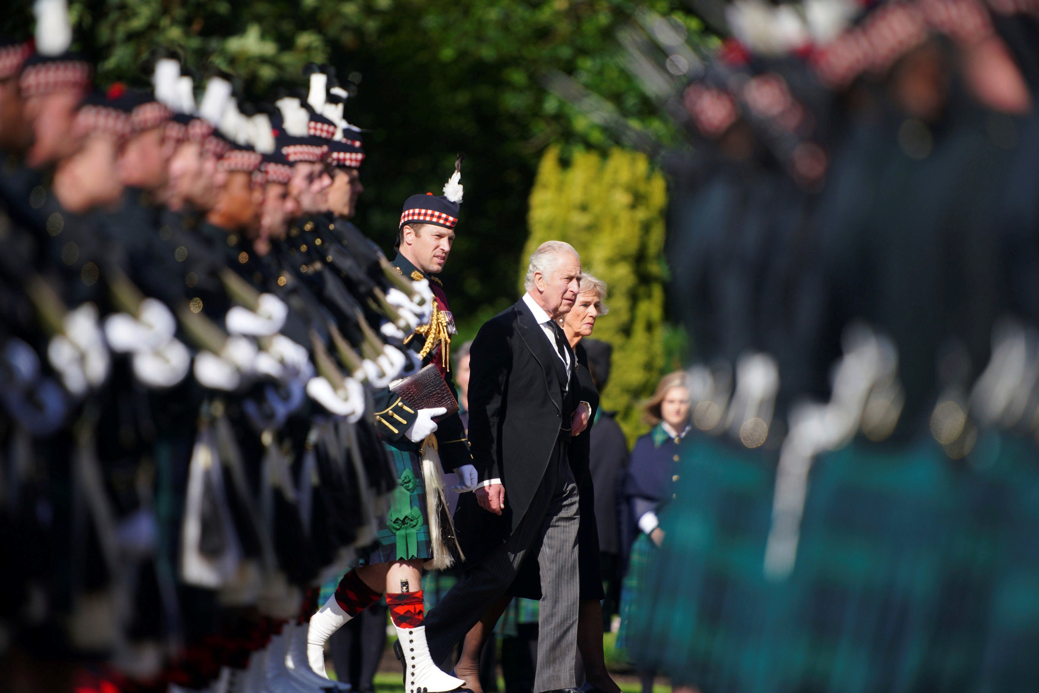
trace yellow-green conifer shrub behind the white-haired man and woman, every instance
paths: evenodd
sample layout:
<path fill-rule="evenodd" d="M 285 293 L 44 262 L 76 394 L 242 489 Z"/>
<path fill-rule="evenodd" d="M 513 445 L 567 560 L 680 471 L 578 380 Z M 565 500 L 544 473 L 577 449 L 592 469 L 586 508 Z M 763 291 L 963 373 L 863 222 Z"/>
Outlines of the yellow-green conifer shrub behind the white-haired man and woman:
<path fill-rule="evenodd" d="M 664 213 L 667 187 L 649 159 L 611 150 L 575 154 L 569 165 L 559 149 L 541 158 L 530 194 L 530 238 L 520 276 L 538 245 L 566 241 L 581 254 L 582 269 L 607 283 L 609 315 L 593 338 L 613 345 L 603 407 L 616 410 L 629 443 L 646 431 L 639 404 L 652 394 L 664 367 Z M 522 291 L 521 287 L 521 291 Z"/>

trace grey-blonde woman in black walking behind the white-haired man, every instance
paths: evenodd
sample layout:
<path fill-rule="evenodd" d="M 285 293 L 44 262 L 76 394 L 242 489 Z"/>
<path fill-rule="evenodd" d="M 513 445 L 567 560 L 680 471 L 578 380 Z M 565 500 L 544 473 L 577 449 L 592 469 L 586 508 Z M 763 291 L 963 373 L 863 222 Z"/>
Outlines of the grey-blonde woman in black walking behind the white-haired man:
<path fill-rule="evenodd" d="M 578 529 L 578 568 L 580 572 L 581 606 L 578 615 L 578 651 L 584 663 L 586 684 L 589 693 L 620 693 L 620 688 L 606 670 L 603 652 L 603 572 L 600 565 L 598 529 L 595 524 L 595 496 L 592 488 L 589 457 L 591 450 L 591 424 L 598 411 L 598 391 L 588 370 L 588 354 L 581 345 L 581 339 L 589 337 L 595 326 L 595 319 L 606 315 L 608 309 L 603 303 L 606 298 L 606 283 L 590 274 L 581 277 L 581 287 L 570 312 L 560 319 L 559 324 L 566 335 L 578 357 L 578 381 L 581 385 L 582 401 L 591 405 L 588 426 L 584 432 L 570 442 L 569 461 L 581 494 L 581 525 Z M 502 598 L 491 607 L 483 618 L 465 636 L 461 658 L 455 666 L 455 675 L 464 678 L 467 687 L 480 693 L 478 681 L 473 673 L 477 670 L 477 658 L 484 642 L 494 632 L 495 624 L 514 596 L 529 599 L 541 598 L 541 579 L 537 565 L 537 554 L 524 562 Z M 533 677 L 531 677 L 533 678 Z M 474 686 L 476 685 L 476 686 Z"/>

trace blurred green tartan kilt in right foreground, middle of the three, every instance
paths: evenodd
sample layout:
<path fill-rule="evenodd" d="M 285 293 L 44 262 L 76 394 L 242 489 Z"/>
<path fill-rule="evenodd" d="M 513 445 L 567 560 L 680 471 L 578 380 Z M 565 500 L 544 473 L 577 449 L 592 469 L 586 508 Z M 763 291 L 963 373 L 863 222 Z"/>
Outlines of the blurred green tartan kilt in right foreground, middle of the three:
<path fill-rule="evenodd" d="M 769 605 L 762 688 L 897 693 L 929 683 L 957 513 L 951 472 L 929 435 L 856 439 L 816 460 L 797 562 Z"/>

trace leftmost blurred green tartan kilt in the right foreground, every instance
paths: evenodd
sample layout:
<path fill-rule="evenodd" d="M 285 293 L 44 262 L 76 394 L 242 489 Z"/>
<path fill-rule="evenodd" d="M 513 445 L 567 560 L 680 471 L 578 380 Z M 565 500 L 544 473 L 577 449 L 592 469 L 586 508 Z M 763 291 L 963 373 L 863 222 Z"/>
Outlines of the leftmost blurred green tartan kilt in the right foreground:
<path fill-rule="evenodd" d="M 705 436 L 686 446 L 673 499 L 658 512 L 664 541 L 657 549 L 640 537 L 646 564 L 625 584 L 623 642 L 640 670 L 665 673 L 675 686 L 751 690 L 769 593 L 763 558 L 775 452 Z"/>

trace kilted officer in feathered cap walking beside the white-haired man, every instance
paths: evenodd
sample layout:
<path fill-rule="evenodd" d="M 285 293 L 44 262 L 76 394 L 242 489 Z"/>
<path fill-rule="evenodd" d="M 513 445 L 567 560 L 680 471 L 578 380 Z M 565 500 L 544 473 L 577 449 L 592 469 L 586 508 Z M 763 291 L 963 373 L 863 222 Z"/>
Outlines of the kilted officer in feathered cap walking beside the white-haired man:
<path fill-rule="evenodd" d="M 402 276 L 428 289 L 432 305 L 429 322 L 417 325 L 406 339 L 408 357 L 422 366 L 433 365 L 456 399 L 449 369 L 451 336 L 456 329 L 447 295 L 434 275 L 443 269 L 454 240 L 462 195 L 460 164 L 461 157 L 443 196 L 412 195 L 404 203 L 398 255 L 392 263 Z M 391 303 L 406 301 L 398 304 L 412 310 L 416 315 L 423 313 L 403 294 L 397 296 L 391 291 L 387 300 Z M 438 453 L 438 463 L 444 471 L 454 471 L 462 483 L 468 484 L 463 489 L 470 490 L 475 487 L 477 477 L 471 463 L 465 430 L 457 412 L 434 421 L 446 409 L 419 408 L 388 388 L 375 392 L 374 408 L 376 428 L 393 460 L 398 485 L 390 496 L 385 516 L 378 522 L 375 542 L 361 556 L 361 565 L 343 577 L 336 593 L 311 618 L 308 656 L 311 666 L 323 672 L 323 647 L 328 637 L 378 601 L 384 591 L 399 636 L 394 651 L 404 667 L 405 691 L 452 691 L 464 682 L 441 671 L 429 656 L 422 568 L 426 563 L 431 567 L 449 566 L 448 543 L 454 543 L 447 504 L 441 502 L 444 499 L 443 480 L 435 463 L 430 462 L 430 449 Z M 432 454 L 432 460 L 436 459 L 437 455 Z M 430 498 L 436 502 L 435 508 L 429 507 Z"/>

